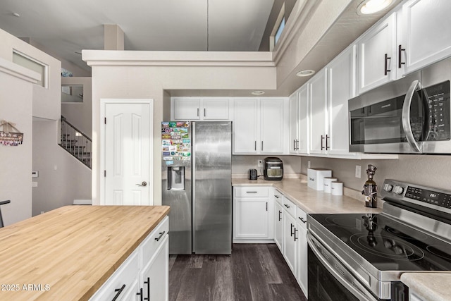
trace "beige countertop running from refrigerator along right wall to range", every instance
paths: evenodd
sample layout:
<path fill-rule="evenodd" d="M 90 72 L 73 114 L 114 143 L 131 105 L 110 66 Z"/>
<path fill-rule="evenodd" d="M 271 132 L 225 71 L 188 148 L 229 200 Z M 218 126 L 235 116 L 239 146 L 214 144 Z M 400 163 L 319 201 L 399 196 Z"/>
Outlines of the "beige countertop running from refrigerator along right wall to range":
<path fill-rule="evenodd" d="M 305 211 L 307 214 L 381 212 L 381 208 L 365 207 L 363 199 L 361 201 L 347 195 L 331 195 L 330 193 L 309 188 L 307 183 L 299 178 L 284 178 L 283 180 L 247 180 L 243 178 L 233 178 L 232 185 L 271 185 L 280 190 L 285 197 L 288 197 L 290 201 L 295 203 L 297 207 Z M 352 190 L 352 193 L 362 197 L 362 194 L 356 192 L 355 190 Z"/>

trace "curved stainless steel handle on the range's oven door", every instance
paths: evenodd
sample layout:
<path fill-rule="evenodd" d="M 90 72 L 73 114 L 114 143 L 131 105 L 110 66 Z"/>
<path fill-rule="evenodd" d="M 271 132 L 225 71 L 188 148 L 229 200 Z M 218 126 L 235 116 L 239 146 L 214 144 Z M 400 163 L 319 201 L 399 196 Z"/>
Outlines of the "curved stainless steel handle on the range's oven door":
<path fill-rule="evenodd" d="M 364 286 L 360 284 L 359 281 L 357 281 L 357 279 L 355 279 L 354 276 L 352 276 L 352 274 L 347 271 L 347 269 L 345 269 L 344 266 L 342 269 L 340 269 L 340 267 L 335 264 L 336 268 L 334 268 L 334 266 L 332 266 L 327 260 L 327 257 L 332 257 L 335 259 L 335 257 L 333 257 L 333 254 L 329 254 L 329 256 L 323 254 L 323 252 L 329 253 L 328 250 L 326 250 L 324 247 L 323 250 L 320 250 L 319 245 L 321 244 L 319 242 L 314 242 L 314 238 L 312 238 L 311 234 L 309 233 L 307 233 L 307 242 L 310 245 L 311 251 L 316 255 L 316 258 L 319 259 L 319 261 L 326 267 L 329 273 L 332 274 L 332 276 L 337 279 L 338 282 L 340 282 L 347 290 L 349 290 L 352 295 L 357 297 L 359 300 L 377 301 L 376 297 L 371 295 L 371 293 L 369 293 L 366 288 L 364 288 Z M 343 276 L 345 273 L 350 278 L 353 278 L 354 281 L 347 280 Z"/>

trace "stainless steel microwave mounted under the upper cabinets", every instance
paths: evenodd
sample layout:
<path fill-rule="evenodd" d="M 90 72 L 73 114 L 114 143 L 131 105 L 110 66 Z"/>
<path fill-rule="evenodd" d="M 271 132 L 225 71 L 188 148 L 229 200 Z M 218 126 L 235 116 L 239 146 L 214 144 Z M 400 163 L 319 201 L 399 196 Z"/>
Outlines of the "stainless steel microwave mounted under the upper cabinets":
<path fill-rule="evenodd" d="M 350 99 L 350 152 L 451 154 L 451 59 Z"/>

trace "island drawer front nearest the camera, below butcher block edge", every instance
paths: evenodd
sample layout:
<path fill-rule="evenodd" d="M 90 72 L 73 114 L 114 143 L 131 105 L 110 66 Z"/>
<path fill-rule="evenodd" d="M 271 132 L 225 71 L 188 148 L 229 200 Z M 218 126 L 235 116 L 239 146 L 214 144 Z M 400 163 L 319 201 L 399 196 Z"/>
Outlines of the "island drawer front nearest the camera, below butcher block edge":
<path fill-rule="evenodd" d="M 125 295 L 130 294 L 130 290 L 137 282 L 138 271 L 138 252 L 135 250 L 89 300 L 113 300 L 116 295 L 118 295 L 116 300 L 125 300 Z M 121 293 L 116 291 L 121 288 L 123 288 Z"/>

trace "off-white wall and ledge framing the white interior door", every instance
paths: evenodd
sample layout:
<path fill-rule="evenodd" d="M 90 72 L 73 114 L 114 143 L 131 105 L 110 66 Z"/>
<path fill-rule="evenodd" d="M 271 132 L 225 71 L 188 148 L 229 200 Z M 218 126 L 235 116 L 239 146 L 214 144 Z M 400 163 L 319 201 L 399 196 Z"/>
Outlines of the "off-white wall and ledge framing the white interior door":
<path fill-rule="evenodd" d="M 92 66 L 92 201 L 100 196 L 100 99 L 154 99 L 154 153 L 161 152 L 165 90 L 274 89 L 271 53 L 82 51 Z M 167 104 L 166 104 L 167 108 Z M 167 109 L 166 109 L 167 112 Z M 161 204 L 161 157 L 154 156 L 154 204 Z"/>

